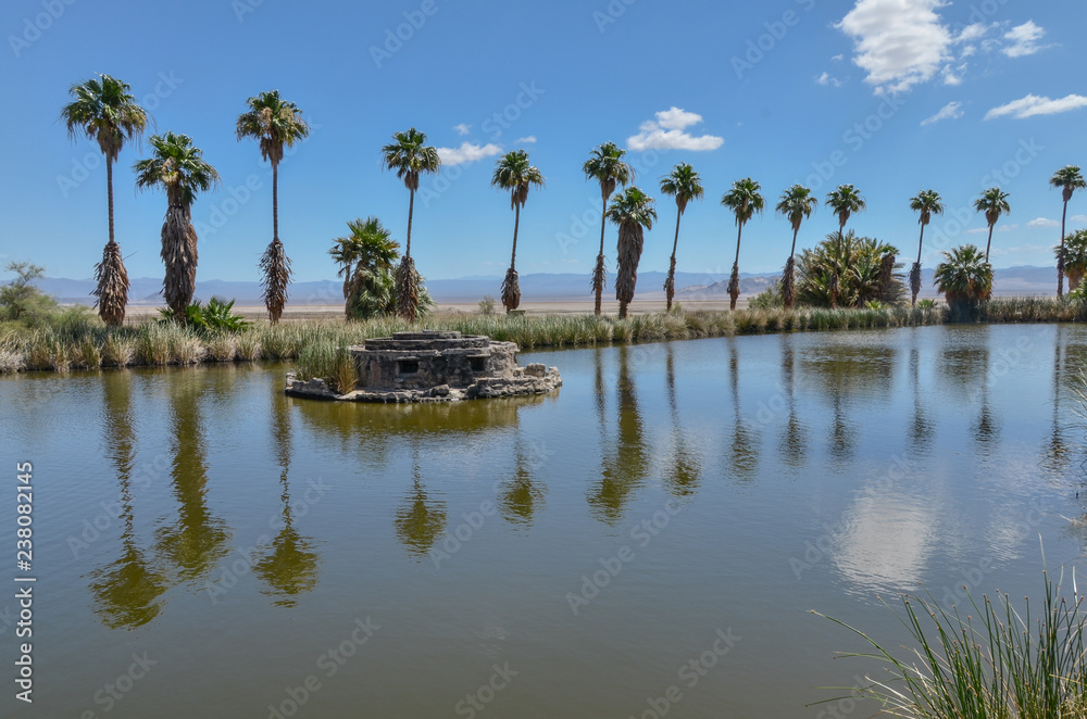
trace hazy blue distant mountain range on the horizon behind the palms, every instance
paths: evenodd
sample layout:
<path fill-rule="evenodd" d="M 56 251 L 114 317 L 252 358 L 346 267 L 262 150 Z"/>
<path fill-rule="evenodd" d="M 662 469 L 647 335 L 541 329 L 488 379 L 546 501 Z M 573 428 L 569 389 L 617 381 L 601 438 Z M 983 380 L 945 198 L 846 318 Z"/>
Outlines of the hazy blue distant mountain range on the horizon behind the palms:
<path fill-rule="evenodd" d="M 1008 267 L 997 269 L 995 294 L 1000 297 L 1053 295 L 1057 286 L 1054 267 Z M 923 298 L 936 297 L 933 290 L 933 270 L 922 272 Z M 740 274 L 740 293 L 753 295 L 763 291 L 777 279 L 777 274 Z M 665 273 L 647 272 L 638 274 L 638 299 L 658 300 L 664 298 Z M 585 274 L 535 274 L 521 276 L 521 295 L 525 302 L 571 302 L 591 300 L 589 277 Z M 614 275 L 608 276 L 608 297 L 614 287 Z M 162 279 L 139 277 L 130 280 L 129 302 L 132 304 L 162 304 Z M 484 295 L 499 297 L 502 278 L 462 277 L 460 279 L 434 279 L 426 282 L 430 295 L 437 302 L 478 302 Z M 91 304 L 95 289 L 93 279 L 64 279 L 46 277 L 37 281 L 41 291 L 60 302 Z M 290 286 L 291 304 L 339 304 L 343 301 L 339 281 L 295 282 Z M 676 273 L 676 298 L 684 300 L 719 300 L 728 297 L 728 277 L 725 275 L 702 275 L 698 273 Z M 261 287 L 258 282 L 232 280 L 198 280 L 197 299 L 207 301 L 212 297 L 234 299 L 239 305 L 261 304 Z"/>

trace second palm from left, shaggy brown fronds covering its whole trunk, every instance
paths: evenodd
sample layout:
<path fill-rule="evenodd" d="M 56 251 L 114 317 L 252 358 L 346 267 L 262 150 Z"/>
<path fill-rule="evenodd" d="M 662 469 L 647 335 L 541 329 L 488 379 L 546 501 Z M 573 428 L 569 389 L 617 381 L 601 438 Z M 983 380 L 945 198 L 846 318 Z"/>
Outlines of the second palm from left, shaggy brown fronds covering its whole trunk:
<path fill-rule="evenodd" d="M 203 160 L 203 152 L 188 135 L 152 135 L 148 140 L 154 156 L 137 162 L 136 187 L 161 187 L 166 192 L 166 218 L 162 223 L 162 251 L 166 265 L 162 281 L 166 305 L 175 319 L 185 318 L 185 307 L 197 289 L 197 231 L 192 227 L 192 203 L 197 192 L 218 182 L 218 173 Z"/>

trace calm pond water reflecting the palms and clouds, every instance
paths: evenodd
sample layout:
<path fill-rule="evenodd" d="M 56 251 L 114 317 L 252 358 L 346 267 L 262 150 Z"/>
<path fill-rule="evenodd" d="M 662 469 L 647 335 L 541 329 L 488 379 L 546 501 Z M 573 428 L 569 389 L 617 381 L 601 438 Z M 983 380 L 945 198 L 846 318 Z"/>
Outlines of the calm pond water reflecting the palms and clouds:
<path fill-rule="evenodd" d="M 815 718 L 864 666 L 809 609 L 894 646 L 879 597 L 1037 595 L 1039 535 L 1075 566 L 1085 358 L 1079 327 L 745 337 L 526 354 L 559 393 L 429 406 L 4 378 L 38 583 L 35 703 L 0 714 Z"/>

